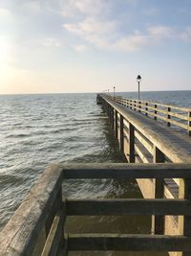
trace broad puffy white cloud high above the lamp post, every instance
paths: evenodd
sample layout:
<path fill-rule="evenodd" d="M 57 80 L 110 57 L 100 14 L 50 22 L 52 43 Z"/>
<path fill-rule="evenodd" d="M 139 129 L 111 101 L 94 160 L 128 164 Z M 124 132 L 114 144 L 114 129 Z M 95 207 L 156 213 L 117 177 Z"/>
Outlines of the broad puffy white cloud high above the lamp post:
<path fill-rule="evenodd" d="M 78 23 L 64 24 L 63 27 L 69 33 L 79 35 L 94 47 L 129 52 L 137 51 L 148 45 L 154 45 L 177 35 L 176 31 L 171 27 L 155 26 L 147 28 L 144 34 L 135 31 L 131 35 L 119 36 L 117 25 L 115 21 L 100 21 L 89 17 Z"/>

